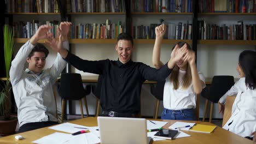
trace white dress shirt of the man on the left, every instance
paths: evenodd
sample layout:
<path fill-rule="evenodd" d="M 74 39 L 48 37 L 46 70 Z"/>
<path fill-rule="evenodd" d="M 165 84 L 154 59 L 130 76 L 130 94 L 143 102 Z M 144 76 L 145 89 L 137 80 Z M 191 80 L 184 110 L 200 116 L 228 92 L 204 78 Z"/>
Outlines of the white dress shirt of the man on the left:
<path fill-rule="evenodd" d="M 67 41 L 63 42 L 62 45 L 68 49 Z M 53 84 L 67 64 L 57 53 L 53 65 L 43 70 L 42 73 L 34 74 L 29 69 L 24 71 L 26 58 L 33 47 L 34 45 L 27 41 L 11 62 L 10 68 L 10 82 L 18 107 L 20 127 L 25 123 L 57 121 Z"/>

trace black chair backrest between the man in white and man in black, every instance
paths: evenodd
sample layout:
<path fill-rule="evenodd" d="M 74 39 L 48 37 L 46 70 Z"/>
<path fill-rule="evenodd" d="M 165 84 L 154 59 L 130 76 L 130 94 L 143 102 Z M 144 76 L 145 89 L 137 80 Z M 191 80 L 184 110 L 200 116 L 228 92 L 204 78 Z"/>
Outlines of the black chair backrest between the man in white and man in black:
<path fill-rule="evenodd" d="M 85 97 L 86 92 L 81 75 L 76 73 L 61 74 L 59 94 L 61 98 L 66 100 L 79 100 Z"/>

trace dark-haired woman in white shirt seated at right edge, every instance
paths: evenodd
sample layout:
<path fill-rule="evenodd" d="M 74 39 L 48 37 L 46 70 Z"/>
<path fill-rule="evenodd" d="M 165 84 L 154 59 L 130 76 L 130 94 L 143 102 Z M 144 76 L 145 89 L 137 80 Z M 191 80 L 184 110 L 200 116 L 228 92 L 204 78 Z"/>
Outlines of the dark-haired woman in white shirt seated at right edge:
<path fill-rule="evenodd" d="M 229 90 L 236 89 L 236 99 L 232 106 L 231 117 L 224 129 L 237 135 L 251 136 L 256 130 L 256 52 L 243 51 L 240 53 L 237 71 L 241 78 Z M 225 95 L 219 100 L 224 105 Z M 220 109 L 222 111 L 223 109 Z M 252 139 L 252 138 L 251 138 Z"/>

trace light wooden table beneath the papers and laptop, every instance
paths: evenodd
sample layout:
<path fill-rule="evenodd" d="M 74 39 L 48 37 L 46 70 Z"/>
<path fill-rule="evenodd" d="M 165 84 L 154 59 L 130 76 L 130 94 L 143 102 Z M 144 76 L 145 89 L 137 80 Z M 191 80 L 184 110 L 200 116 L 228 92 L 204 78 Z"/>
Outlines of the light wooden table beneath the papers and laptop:
<path fill-rule="evenodd" d="M 154 119 L 155 120 L 155 119 Z M 158 119 L 162 121 L 161 119 Z M 170 127 L 176 121 L 164 120 L 168 122 L 164 128 Z M 183 121 L 186 122 L 186 121 Z M 187 121 L 188 122 L 188 121 Z M 193 121 L 190 121 L 193 122 Z M 207 125 L 214 125 L 209 122 L 201 122 L 201 121 L 194 121 L 195 123 L 207 124 Z M 88 117 L 83 119 L 78 119 L 75 121 L 71 121 L 70 123 L 85 125 L 88 127 L 97 126 L 97 118 L 96 117 Z M 32 131 L 27 131 L 25 133 L 15 134 L 15 135 L 22 135 L 25 137 L 24 140 L 15 140 L 15 135 L 5 136 L 0 138 L 0 143 L 31 143 L 34 140 L 40 139 L 43 136 L 50 135 L 56 132 L 56 130 L 49 129 L 49 128 L 42 128 Z M 63 133 L 63 131 L 59 131 Z M 206 133 L 197 133 L 193 131 L 184 131 L 185 133 L 191 135 L 190 137 L 183 137 L 176 140 L 162 140 L 162 141 L 154 141 L 153 143 L 195 143 L 195 144 L 221 144 L 221 143 L 253 143 L 251 140 L 245 139 L 244 137 L 238 136 L 236 134 L 231 133 L 225 129 L 217 127 L 213 133 L 206 134 Z"/>

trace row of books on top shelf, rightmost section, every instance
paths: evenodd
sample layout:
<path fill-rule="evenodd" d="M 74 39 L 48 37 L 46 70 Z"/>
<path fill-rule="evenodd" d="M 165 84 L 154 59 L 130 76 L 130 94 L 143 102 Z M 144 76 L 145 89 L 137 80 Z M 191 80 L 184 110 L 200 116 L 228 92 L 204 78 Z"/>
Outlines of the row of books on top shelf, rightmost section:
<path fill-rule="evenodd" d="M 199 0 L 199 13 L 256 13 L 254 0 Z"/>

